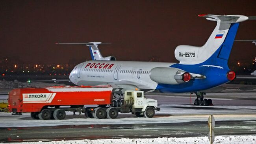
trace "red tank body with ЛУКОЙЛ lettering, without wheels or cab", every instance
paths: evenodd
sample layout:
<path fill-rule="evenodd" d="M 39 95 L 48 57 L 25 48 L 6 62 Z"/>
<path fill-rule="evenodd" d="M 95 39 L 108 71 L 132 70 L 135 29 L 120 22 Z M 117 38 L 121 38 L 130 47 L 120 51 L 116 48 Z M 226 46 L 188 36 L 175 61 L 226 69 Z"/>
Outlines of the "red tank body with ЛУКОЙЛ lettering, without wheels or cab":
<path fill-rule="evenodd" d="M 111 86 L 52 86 L 17 88 L 9 92 L 9 112 L 41 112 L 48 106 L 107 105 L 112 101 Z"/>

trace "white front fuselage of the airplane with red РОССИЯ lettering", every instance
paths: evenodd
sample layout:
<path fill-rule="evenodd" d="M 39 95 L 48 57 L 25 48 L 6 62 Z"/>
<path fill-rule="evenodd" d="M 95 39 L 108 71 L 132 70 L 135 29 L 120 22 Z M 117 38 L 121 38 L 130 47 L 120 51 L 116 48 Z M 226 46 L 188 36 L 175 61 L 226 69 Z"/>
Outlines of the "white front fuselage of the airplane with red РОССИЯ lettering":
<path fill-rule="evenodd" d="M 76 85 L 130 84 L 141 89 L 156 89 L 150 79 L 155 67 L 170 67 L 175 63 L 141 61 L 86 61 L 76 65 L 70 81 Z"/>

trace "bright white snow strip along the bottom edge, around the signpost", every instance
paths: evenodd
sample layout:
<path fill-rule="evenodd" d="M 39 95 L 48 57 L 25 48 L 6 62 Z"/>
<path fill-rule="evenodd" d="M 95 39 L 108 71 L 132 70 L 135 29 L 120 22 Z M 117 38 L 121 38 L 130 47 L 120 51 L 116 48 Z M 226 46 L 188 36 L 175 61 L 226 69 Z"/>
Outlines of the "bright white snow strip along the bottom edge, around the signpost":
<path fill-rule="evenodd" d="M 213 144 L 255 144 L 255 135 L 217 136 Z M 22 142 L 12 144 L 209 144 L 208 137 L 163 137 L 154 139 L 96 139 L 96 140 L 61 140 L 52 142 Z"/>

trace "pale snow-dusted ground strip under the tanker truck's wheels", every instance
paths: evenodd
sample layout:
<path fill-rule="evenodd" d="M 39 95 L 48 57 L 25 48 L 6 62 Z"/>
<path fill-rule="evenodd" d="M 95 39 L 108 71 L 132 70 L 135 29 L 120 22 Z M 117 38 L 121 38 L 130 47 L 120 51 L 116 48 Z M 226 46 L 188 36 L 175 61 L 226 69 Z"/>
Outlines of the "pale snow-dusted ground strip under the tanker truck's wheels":
<path fill-rule="evenodd" d="M 0 112 L 0 127 L 1 128 L 12 128 L 12 127 L 30 127 L 30 126 L 58 126 L 58 125 L 84 125 L 84 124 L 147 124 L 147 123 L 176 123 L 176 122 L 191 122 L 191 121 L 207 121 L 209 117 L 210 110 L 198 110 L 197 114 L 191 115 L 187 112 L 187 109 L 179 110 L 175 108 L 170 108 L 170 106 L 179 106 L 179 105 L 164 105 L 160 106 L 161 110 L 156 112 L 155 117 L 145 118 L 145 117 L 136 117 L 132 114 L 119 113 L 117 119 L 84 119 L 84 114 L 81 116 L 73 116 L 73 112 L 67 112 L 67 117 L 64 120 L 32 120 L 30 113 L 22 113 L 22 115 L 11 115 L 11 113 Z M 194 107 L 194 106 L 193 106 Z M 250 106 L 252 109 L 252 106 Z M 220 110 L 215 110 L 214 114 L 215 121 L 254 121 L 256 119 L 255 109 L 254 113 L 246 114 L 243 112 L 245 108 L 241 107 L 241 110 L 238 108 L 232 110 L 232 115 L 223 115 L 223 112 Z M 202 111 L 202 112 L 201 112 Z M 205 112 L 206 111 L 206 112 Z M 225 111 L 225 110 L 223 110 Z M 241 112 L 243 116 L 241 117 Z M 200 114 L 202 113 L 202 114 Z M 207 113 L 207 114 L 206 114 Z M 219 113 L 219 114 L 218 114 Z M 78 113 L 76 113 L 78 114 Z M 256 125 L 255 125 L 256 128 Z"/>

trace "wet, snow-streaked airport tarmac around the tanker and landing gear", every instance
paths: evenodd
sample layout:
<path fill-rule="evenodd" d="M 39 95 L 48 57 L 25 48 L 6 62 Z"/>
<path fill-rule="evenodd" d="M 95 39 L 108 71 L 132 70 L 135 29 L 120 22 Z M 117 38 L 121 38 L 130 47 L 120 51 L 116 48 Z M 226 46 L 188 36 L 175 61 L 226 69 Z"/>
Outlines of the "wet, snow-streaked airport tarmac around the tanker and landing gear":
<path fill-rule="evenodd" d="M 0 142 L 207 136 L 208 117 L 215 135 L 256 135 L 256 91 L 226 90 L 205 95 L 214 106 L 193 106 L 195 95 L 149 93 L 161 108 L 153 118 L 119 114 L 117 119 L 32 120 L 29 113 L 0 113 Z"/>

